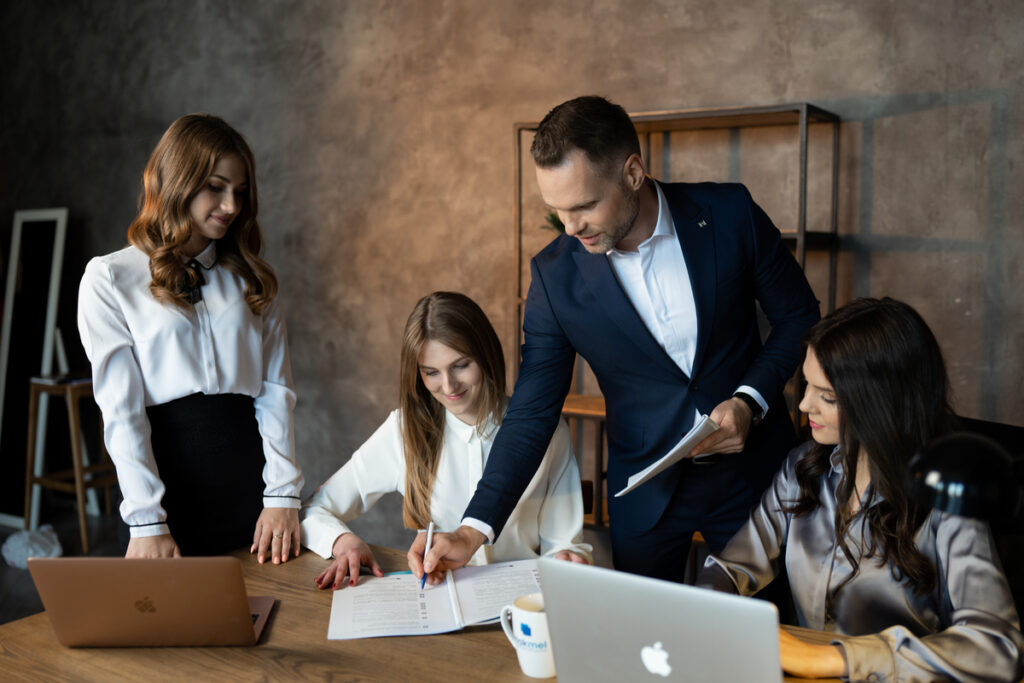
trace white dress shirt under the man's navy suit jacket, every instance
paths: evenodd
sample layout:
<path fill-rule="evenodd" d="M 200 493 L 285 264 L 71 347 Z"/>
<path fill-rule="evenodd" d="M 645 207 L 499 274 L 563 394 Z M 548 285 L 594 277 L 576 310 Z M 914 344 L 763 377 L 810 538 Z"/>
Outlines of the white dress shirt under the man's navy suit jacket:
<path fill-rule="evenodd" d="M 657 222 L 653 234 L 635 252 L 610 250 L 608 262 L 654 340 L 687 377 L 692 377 L 697 350 L 696 301 L 669 203 L 656 182 L 654 189 Z M 768 403 L 757 389 L 744 384 L 735 390 L 753 396 L 762 417 L 768 414 Z"/>

